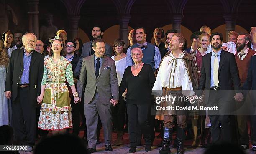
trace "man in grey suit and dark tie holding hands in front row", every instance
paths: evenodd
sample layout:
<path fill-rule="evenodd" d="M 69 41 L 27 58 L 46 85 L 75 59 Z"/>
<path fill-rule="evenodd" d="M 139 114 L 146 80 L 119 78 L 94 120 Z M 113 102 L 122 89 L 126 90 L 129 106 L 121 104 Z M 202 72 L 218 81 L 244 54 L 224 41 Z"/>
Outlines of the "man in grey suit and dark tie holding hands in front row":
<path fill-rule="evenodd" d="M 102 121 L 106 151 L 112 151 L 111 104 L 115 106 L 119 99 L 118 78 L 115 61 L 104 55 L 105 43 L 102 39 L 93 42 L 95 54 L 83 58 L 77 84 L 79 98 L 84 92 L 84 114 L 87 125 L 88 153 L 96 152 L 96 129 L 98 116 Z"/>

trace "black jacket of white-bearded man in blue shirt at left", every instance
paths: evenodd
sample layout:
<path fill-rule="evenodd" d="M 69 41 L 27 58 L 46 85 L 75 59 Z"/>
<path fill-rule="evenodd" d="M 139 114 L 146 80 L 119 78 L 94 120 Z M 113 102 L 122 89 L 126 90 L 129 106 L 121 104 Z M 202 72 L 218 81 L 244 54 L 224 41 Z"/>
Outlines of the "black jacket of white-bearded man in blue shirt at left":
<path fill-rule="evenodd" d="M 13 50 L 5 81 L 5 91 L 11 91 L 12 102 L 18 94 L 18 84 L 23 73 L 24 49 Z M 36 106 L 36 97 L 41 92 L 41 82 L 44 73 L 44 56 L 33 50 L 29 66 L 29 98 L 28 102 Z"/>

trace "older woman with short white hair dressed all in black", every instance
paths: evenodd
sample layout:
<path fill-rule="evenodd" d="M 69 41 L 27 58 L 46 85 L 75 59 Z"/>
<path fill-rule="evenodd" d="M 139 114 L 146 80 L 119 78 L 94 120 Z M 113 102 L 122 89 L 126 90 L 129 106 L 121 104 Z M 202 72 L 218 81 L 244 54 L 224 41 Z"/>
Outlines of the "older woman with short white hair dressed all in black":
<path fill-rule="evenodd" d="M 154 86 L 154 71 L 148 64 L 142 63 L 143 53 L 140 48 L 133 48 L 131 56 L 133 66 L 125 69 L 120 85 L 120 94 L 126 93 L 126 106 L 129 124 L 129 138 L 131 149 L 136 152 L 136 130 L 139 124 L 145 140 L 145 151 L 151 151 L 151 129 L 149 117 L 151 115 L 150 97 Z"/>

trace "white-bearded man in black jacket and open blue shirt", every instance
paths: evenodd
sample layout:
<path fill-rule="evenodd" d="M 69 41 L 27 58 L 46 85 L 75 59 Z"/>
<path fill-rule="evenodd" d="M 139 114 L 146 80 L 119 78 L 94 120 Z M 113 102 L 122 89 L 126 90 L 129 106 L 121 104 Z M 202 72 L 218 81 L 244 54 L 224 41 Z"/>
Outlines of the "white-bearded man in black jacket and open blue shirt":
<path fill-rule="evenodd" d="M 13 127 L 20 145 L 35 145 L 36 101 L 40 95 L 44 72 L 44 56 L 33 50 L 36 36 L 22 36 L 24 49 L 13 50 L 10 58 L 5 95 L 12 99 Z"/>

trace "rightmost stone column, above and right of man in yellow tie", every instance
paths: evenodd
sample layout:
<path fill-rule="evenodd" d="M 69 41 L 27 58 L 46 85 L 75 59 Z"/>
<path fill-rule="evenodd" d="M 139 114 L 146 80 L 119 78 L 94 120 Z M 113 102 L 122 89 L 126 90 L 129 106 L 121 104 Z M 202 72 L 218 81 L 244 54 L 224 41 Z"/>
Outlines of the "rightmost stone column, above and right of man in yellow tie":
<path fill-rule="evenodd" d="M 233 14 L 225 14 L 223 15 L 224 19 L 225 19 L 225 23 L 226 23 L 226 41 L 228 41 L 228 33 L 230 33 L 230 31 L 235 30 L 235 26 L 236 26 L 236 15 Z"/>

